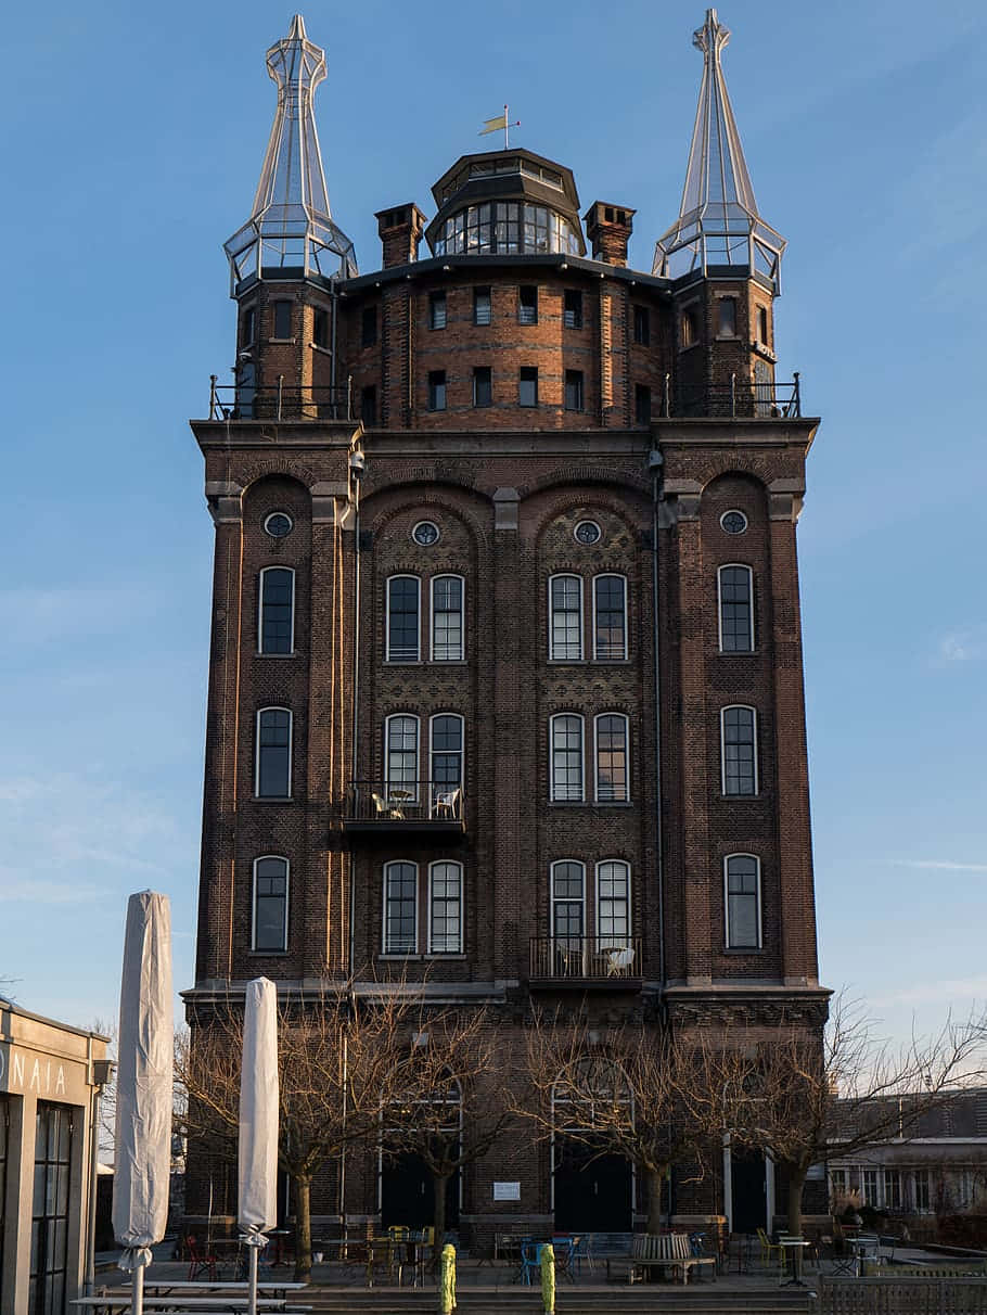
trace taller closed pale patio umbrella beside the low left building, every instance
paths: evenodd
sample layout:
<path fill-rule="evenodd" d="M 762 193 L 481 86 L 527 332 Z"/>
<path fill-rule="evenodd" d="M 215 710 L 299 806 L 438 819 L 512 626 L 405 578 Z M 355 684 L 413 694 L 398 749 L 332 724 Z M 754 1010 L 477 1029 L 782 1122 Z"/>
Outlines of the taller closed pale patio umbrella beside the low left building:
<path fill-rule="evenodd" d="M 120 1268 L 133 1270 L 133 1315 L 143 1312 L 145 1268 L 168 1222 L 173 1036 L 171 905 L 142 890 L 126 910 L 113 1172 L 113 1236 Z"/>

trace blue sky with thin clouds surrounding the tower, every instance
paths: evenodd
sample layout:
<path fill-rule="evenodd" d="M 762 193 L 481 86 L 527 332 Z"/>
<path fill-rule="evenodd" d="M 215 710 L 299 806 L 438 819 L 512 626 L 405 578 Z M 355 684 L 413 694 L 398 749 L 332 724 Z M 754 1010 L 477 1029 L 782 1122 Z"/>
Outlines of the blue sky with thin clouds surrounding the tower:
<path fill-rule="evenodd" d="M 126 896 L 171 894 L 192 981 L 212 525 L 187 427 L 229 379 L 222 241 L 273 112 L 292 9 L 53 0 L 0 83 L 8 517 L 0 522 L 0 977 L 28 1009 L 117 1011 Z M 779 376 L 823 416 L 799 527 L 823 978 L 932 1027 L 987 998 L 980 433 L 987 11 L 973 0 L 733 3 L 724 57 L 758 203 L 790 242 Z M 334 217 L 514 142 L 677 213 L 700 3 L 310 5 Z"/>

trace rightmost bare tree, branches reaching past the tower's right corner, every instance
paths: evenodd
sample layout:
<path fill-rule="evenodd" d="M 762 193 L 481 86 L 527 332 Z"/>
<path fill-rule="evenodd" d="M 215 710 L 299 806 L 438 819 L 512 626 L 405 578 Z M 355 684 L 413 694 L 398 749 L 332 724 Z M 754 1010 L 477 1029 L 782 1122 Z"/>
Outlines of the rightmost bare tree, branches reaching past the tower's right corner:
<path fill-rule="evenodd" d="M 760 1032 L 757 1053 L 736 1103 L 735 1143 L 770 1151 L 789 1181 L 789 1232 L 802 1232 L 802 1195 L 814 1164 L 837 1151 L 852 1156 L 891 1137 L 907 1140 L 929 1111 L 962 1084 L 982 1078 L 982 1026 L 948 1020 L 933 1038 L 892 1047 L 875 1035 L 862 1007 L 837 997 L 820 1036 L 804 1024 Z"/>

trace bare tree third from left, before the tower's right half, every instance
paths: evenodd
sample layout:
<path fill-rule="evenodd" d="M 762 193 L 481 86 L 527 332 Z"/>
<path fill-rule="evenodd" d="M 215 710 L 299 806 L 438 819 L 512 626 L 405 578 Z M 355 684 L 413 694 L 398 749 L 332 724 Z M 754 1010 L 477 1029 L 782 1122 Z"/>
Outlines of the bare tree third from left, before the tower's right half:
<path fill-rule="evenodd" d="M 750 1061 L 712 1032 L 678 1036 L 627 1023 L 598 1032 L 536 1018 L 527 1069 L 538 1099 L 516 1105 L 543 1136 L 564 1134 L 635 1164 L 647 1185 L 648 1232 L 661 1230 L 661 1185 L 677 1165 L 697 1181 L 722 1145 Z"/>

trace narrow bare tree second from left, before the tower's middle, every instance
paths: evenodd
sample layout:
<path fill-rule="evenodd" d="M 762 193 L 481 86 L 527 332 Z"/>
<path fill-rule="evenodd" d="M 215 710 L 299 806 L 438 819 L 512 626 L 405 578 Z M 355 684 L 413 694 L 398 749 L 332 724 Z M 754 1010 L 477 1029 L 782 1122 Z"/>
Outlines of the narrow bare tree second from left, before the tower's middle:
<path fill-rule="evenodd" d="M 482 1160 L 514 1115 L 486 1010 L 422 1011 L 409 1043 L 394 1074 L 394 1099 L 384 1110 L 381 1144 L 392 1159 L 414 1155 L 428 1170 L 438 1256 L 449 1182 Z"/>

